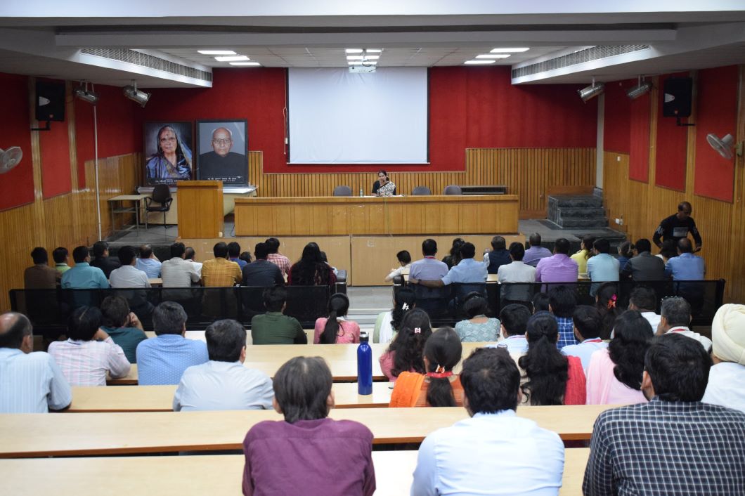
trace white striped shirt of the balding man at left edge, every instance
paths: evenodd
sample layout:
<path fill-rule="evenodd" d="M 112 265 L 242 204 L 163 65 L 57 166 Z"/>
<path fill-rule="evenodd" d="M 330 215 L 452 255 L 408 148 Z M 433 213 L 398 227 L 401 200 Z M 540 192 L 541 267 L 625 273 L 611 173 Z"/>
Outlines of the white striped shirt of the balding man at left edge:
<path fill-rule="evenodd" d="M 48 353 L 0 348 L 0 413 L 47 413 L 70 401 L 70 385 Z"/>

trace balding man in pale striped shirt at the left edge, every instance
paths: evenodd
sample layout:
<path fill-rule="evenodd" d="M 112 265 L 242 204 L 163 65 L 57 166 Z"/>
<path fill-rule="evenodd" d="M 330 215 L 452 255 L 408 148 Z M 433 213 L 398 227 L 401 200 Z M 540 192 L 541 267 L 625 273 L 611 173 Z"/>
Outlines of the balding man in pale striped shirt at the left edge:
<path fill-rule="evenodd" d="M 70 406 L 72 391 L 50 354 L 33 352 L 31 322 L 0 315 L 0 413 L 47 413 Z"/>

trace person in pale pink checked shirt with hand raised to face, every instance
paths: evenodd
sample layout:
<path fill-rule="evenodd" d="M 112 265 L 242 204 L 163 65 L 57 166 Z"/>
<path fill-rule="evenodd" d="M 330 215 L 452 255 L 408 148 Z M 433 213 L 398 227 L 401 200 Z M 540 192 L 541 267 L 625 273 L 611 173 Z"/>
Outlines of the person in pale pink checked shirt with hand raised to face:
<path fill-rule="evenodd" d="M 112 378 L 130 373 L 130 363 L 121 346 L 100 327 L 98 308 L 75 308 L 67 325 L 68 339 L 49 345 L 49 354 L 72 386 L 106 386 L 107 372 Z"/>

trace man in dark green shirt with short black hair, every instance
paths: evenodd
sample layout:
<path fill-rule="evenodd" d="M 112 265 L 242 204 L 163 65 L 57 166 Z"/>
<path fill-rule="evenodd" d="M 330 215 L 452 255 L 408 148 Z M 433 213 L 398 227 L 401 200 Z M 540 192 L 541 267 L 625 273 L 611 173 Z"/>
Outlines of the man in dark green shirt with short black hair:
<path fill-rule="evenodd" d="M 277 267 L 274 267 L 279 270 Z M 283 312 L 287 306 L 287 290 L 284 286 L 267 287 L 264 290 L 266 314 L 251 319 L 253 344 L 308 344 L 308 337 L 295 317 Z"/>

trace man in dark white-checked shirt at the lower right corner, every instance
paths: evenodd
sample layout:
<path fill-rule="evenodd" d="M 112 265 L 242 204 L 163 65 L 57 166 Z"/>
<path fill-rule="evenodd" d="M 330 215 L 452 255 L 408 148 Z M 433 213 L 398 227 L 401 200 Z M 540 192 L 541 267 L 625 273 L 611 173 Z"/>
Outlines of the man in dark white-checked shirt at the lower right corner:
<path fill-rule="evenodd" d="M 600 413 L 585 495 L 743 494 L 745 414 L 701 403 L 710 367 L 691 339 L 673 333 L 654 340 L 641 381 L 650 401 Z"/>

